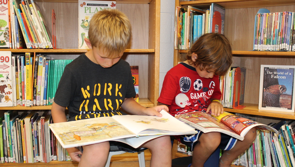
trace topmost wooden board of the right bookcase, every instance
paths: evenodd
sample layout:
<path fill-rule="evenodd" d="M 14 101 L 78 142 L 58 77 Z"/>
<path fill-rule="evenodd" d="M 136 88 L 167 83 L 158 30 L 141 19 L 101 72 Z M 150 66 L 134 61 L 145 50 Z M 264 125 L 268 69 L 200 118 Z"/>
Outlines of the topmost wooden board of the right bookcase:
<path fill-rule="evenodd" d="M 250 8 L 250 7 L 266 7 L 266 6 L 283 6 L 294 5 L 294 0 L 198 0 L 198 1 L 182 1 L 180 5 L 194 6 L 199 9 L 209 9 L 211 3 L 218 4 L 225 9 L 232 8 Z"/>

